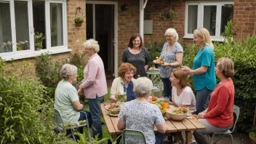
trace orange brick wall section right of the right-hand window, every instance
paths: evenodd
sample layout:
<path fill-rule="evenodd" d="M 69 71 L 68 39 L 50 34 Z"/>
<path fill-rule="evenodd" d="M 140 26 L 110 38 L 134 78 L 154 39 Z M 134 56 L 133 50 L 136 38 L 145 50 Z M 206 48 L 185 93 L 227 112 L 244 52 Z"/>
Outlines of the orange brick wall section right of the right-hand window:
<path fill-rule="evenodd" d="M 246 38 L 256 31 L 256 1 L 234 0 L 233 31 L 236 38 Z"/>

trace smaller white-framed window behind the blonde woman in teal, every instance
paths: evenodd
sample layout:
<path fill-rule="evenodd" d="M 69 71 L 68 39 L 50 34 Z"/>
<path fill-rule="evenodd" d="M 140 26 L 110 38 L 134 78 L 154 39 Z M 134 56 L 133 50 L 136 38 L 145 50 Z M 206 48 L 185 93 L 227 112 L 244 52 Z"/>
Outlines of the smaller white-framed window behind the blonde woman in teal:
<path fill-rule="evenodd" d="M 233 17 L 232 1 L 187 1 L 185 4 L 185 36 L 193 39 L 196 28 L 207 28 L 213 41 L 221 41 L 225 25 Z"/>

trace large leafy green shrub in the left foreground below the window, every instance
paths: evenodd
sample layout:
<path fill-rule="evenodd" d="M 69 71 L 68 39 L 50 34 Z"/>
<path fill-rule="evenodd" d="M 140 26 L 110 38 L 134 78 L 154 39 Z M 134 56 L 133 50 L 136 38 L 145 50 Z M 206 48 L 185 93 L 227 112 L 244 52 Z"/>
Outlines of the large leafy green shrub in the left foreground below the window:
<path fill-rule="evenodd" d="M 46 87 L 34 77 L 4 76 L 4 65 L 0 58 L 0 143 L 70 143 L 64 133 L 53 131 L 53 101 L 44 97 Z"/>

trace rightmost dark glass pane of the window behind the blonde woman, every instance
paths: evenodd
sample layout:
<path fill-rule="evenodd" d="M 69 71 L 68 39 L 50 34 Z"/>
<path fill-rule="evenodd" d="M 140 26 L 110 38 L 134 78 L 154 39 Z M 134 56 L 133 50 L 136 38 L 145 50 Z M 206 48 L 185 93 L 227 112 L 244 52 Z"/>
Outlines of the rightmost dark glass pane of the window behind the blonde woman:
<path fill-rule="evenodd" d="M 226 4 L 221 10 L 221 23 L 220 23 L 220 33 L 224 33 L 225 25 L 233 17 L 233 4 Z"/>

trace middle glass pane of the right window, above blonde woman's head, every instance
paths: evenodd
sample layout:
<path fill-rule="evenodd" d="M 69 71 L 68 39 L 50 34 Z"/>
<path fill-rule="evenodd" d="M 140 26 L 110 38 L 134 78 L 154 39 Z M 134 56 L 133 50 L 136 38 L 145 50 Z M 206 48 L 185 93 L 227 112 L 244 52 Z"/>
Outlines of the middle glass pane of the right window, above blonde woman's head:
<path fill-rule="evenodd" d="M 217 6 L 204 6 L 204 28 L 211 36 L 215 36 L 216 31 L 216 10 Z"/>

